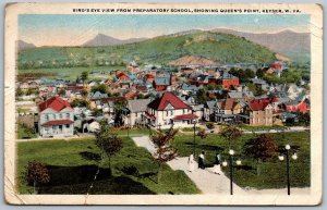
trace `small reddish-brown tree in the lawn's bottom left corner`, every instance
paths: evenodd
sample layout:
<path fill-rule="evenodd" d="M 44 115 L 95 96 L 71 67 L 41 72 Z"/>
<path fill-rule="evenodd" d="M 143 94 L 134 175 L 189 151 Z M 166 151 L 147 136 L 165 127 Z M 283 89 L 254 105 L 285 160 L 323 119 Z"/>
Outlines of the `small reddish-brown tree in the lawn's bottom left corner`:
<path fill-rule="evenodd" d="M 44 183 L 50 181 L 50 174 L 47 166 L 38 161 L 29 161 L 26 166 L 25 178 L 28 185 L 33 184 L 34 193 L 37 194 L 36 188 Z"/>

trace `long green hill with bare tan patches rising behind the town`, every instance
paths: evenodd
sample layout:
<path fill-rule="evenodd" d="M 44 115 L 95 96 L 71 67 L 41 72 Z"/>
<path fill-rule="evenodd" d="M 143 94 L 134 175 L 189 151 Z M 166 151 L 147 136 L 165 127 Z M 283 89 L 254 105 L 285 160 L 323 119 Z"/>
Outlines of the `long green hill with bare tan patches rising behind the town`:
<path fill-rule="evenodd" d="M 168 65 L 183 57 L 181 61 L 184 62 L 190 58 L 189 55 L 205 58 L 220 64 L 269 63 L 276 60 L 276 52 L 272 50 L 242 37 L 223 33 L 181 33 L 123 45 L 110 40 L 114 46 L 44 47 L 24 50 L 19 53 L 19 69 L 33 69 L 31 63 L 36 61 L 43 61 L 41 67 L 117 66 L 125 65 L 132 60 L 141 65 L 147 63 Z M 207 60 L 203 61 L 207 62 Z"/>

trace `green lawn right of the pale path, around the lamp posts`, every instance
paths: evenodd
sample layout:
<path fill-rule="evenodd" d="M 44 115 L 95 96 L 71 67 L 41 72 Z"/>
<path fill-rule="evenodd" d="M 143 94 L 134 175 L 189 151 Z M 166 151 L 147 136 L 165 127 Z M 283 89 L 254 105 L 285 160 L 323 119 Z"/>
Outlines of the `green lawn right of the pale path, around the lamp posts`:
<path fill-rule="evenodd" d="M 292 148 L 298 148 L 298 160 L 291 160 L 290 177 L 292 187 L 310 186 L 310 136 L 307 132 L 271 134 L 279 147 L 290 144 Z M 257 175 L 256 160 L 245 157 L 243 145 L 247 139 L 253 137 L 252 134 L 243 135 L 242 138 L 232 143 L 235 150 L 235 159 L 242 160 L 242 165 L 234 166 L 234 182 L 241 187 L 263 188 L 283 188 L 286 187 L 286 161 L 279 161 L 276 157 L 259 164 L 259 175 Z M 193 136 L 175 136 L 172 145 L 178 149 L 179 156 L 185 157 L 193 152 Z M 196 137 L 196 156 L 204 150 L 206 151 L 206 163 L 214 164 L 216 151 L 220 151 L 223 159 L 228 159 L 228 143 L 219 135 L 208 135 L 207 138 Z M 229 168 L 223 169 L 229 175 Z"/>

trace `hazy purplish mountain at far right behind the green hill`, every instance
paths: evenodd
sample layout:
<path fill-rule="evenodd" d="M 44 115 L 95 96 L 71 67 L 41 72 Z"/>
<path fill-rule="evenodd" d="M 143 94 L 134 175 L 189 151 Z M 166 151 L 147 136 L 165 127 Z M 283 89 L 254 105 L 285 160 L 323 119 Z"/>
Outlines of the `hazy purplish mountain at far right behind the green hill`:
<path fill-rule="evenodd" d="M 286 29 L 271 34 L 254 34 L 225 28 L 214 29 L 213 32 L 244 37 L 247 40 L 266 46 L 275 52 L 290 57 L 292 60 L 301 60 L 304 57 L 310 57 L 311 52 L 310 33 L 295 33 L 293 30 Z"/>

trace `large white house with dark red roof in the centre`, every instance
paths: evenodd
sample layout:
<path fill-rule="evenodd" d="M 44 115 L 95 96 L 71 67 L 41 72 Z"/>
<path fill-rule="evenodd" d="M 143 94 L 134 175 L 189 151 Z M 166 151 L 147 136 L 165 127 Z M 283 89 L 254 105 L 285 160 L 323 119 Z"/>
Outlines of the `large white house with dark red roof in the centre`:
<path fill-rule="evenodd" d="M 197 119 L 192 108 L 170 91 L 153 100 L 143 116 L 145 124 L 153 128 L 169 128 L 172 123 L 175 127 L 193 126 Z"/>

